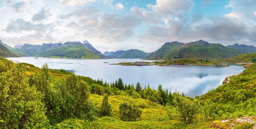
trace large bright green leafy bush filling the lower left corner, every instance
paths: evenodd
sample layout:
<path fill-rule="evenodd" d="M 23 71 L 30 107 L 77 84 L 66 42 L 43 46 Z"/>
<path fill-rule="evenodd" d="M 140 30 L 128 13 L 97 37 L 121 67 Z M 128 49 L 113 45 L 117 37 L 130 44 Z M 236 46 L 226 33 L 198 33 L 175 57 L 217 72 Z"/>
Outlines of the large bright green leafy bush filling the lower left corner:
<path fill-rule="evenodd" d="M 43 96 L 29 86 L 24 67 L 0 59 L 0 78 L 0 128 L 45 127 Z"/>

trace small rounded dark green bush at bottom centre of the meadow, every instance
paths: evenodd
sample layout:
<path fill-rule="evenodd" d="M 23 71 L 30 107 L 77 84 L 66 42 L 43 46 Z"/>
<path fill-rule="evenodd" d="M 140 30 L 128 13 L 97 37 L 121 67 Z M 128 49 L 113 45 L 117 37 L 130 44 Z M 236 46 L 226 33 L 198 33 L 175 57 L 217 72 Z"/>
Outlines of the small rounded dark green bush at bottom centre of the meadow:
<path fill-rule="evenodd" d="M 123 121 L 136 121 L 141 116 L 141 110 L 134 103 L 123 102 L 119 105 L 119 114 Z"/>

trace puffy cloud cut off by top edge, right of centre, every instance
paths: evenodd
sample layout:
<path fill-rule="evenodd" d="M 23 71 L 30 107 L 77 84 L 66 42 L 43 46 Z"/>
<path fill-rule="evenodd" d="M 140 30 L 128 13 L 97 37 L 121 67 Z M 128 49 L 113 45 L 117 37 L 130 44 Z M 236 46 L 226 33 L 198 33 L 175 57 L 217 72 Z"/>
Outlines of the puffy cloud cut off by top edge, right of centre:
<path fill-rule="evenodd" d="M 182 16 L 193 8 L 192 0 L 157 0 L 155 5 L 148 4 L 148 8 L 162 15 Z"/>

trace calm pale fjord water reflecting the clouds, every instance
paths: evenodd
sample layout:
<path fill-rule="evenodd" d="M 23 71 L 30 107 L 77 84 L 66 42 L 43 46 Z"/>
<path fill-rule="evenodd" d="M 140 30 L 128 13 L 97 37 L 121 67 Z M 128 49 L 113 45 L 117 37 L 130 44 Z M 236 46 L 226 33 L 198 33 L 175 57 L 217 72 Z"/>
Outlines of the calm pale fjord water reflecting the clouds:
<path fill-rule="evenodd" d="M 157 89 L 159 85 L 168 90 L 183 91 L 185 96 L 195 97 L 207 93 L 222 84 L 227 76 L 241 73 L 245 68 L 236 64 L 230 67 L 199 66 L 199 65 L 166 65 L 166 66 L 122 66 L 113 63 L 140 62 L 152 60 L 141 59 L 64 59 L 64 58 L 41 58 L 22 57 L 7 58 L 14 62 L 26 62 L 36 67 L 42 67 L 47 63 L 49 69 L 72 70 L 76 75 L 88 76 L 93 79 L 103 79 L 107 82 L 115 82 L 122 78 L 127 85 L 139 81 L 141 87 L 150 85 Z M 104 63 L 105 62 L 105 63 Z M 106 63 L 108 62 L 108 63 Z"/>

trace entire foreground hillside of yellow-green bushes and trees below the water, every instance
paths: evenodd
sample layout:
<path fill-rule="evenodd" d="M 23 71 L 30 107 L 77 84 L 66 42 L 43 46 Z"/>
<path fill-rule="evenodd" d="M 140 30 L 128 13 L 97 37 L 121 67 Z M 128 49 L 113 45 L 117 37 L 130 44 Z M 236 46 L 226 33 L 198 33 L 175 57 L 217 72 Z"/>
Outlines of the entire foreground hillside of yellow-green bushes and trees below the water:
<path fill-rule="evenodd" d="M 1 58 L 0 128 L 250 129 L 256 120 L 255 73 L 252 64 L 190 98 L 162 85 L 104 82 Z"/>

